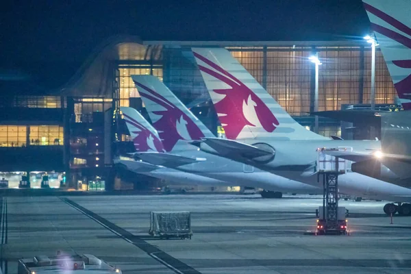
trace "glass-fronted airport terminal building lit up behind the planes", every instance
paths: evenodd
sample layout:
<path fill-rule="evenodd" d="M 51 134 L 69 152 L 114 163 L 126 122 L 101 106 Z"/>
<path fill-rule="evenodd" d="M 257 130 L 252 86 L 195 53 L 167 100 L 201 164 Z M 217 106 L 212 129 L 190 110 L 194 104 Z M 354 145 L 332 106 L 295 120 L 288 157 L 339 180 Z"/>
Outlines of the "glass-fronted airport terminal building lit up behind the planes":
<path fill-rule="evenodd" d="M 215 134 L 219 121 L 191 47 L 225 47 L 283 108 L 307 129 L 314 128 L 314 64 L 318 53 L 319 111 L 369 108 L 371 47 L 365 41 L 145 41 L 116 36 L 99 45 L 59 88 L 18 79 L 1 81 L 0 177 L 16 187 L 22 175 L 40 187 L 66 184 L 88 190 L 145 188 L 155 179 L 123 174 L 113 158 L 132 151 L 127 129 L 114 110 L 144 105 L 131 75 L 155 75 Z M 382 54 L 376 55 L 377 108 L 398 110 L 396 92 Z M 368 104 L 368 106 L 367 106 Z M 320 118 L 319 134 L 364 138 L 355 126 Z M 120 179 L 121 181 L 121 179 Z"/>

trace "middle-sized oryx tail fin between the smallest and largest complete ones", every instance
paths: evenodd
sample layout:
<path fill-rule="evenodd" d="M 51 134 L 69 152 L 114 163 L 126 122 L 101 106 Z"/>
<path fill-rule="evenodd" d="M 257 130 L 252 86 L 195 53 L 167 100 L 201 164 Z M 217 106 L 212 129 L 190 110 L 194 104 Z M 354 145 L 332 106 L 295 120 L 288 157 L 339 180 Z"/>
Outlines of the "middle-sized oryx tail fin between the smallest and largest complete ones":
<path fill-rule="evenodd" d="M 157 77 L 132 75 L 132 79 L 166 151 L 175 149 L 179 140 L 214 137 L 206 125 L 201 123 Z"/>

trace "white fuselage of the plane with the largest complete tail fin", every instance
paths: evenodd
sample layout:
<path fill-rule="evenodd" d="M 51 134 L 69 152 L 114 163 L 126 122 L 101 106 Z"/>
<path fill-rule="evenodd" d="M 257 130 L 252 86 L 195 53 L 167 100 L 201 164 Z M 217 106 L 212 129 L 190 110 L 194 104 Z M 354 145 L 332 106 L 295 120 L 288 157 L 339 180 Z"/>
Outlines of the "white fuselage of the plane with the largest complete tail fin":
<path fill-rule="evenodd" d="M 245 140 L 253 145 L 262 140 Z M 316 160 L 319 148 L 346 148 L 352 151 L 369 152 L 380 149 L 380 143 L 374 140 L 275 140 L 266 142 L 275 149 L 275 156 L 271 162 L 260 163 L 245 159 L 235 159 L 247 162 L 256 168 L 269 171 L 298 182 L 319 186 L 315 173 Z M 215 153 L 215 151 L 213 152 Z M 229 157 L 229 155 L 225 155 Z M 353 173 L 347 165 L 347 173 L 338 177 L 340 192 L 360 197 L 385 199 L 388 201 L 411 201 L 411 189 L 390 184 L 379 179 L 367 177 L 360 173 Z M 255 174 L 257 177 L 258 175 Z"/>

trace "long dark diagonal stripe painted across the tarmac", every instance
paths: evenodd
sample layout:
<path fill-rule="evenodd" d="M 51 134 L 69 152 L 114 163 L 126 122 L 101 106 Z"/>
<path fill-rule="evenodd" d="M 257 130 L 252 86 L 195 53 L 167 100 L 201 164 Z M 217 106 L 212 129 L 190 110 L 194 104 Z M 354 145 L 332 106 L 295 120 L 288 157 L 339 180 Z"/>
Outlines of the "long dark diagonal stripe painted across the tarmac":
<path fill-rule="evenodd" d="M 168 253 L 162 251 L 158 247 L 155 247 L 153 245 L 150 245 L 148 242 L 145 240 L 142 240 L 138 236 L 134 236 L 130 232 L 127 232 L 127 230 L 114 225 L 114 223 L 111 223 L 110 221 L 104 219 L 103 217 L 99 216 L 98 214 L 92 212 L 91 210 L 88 210 L 82 206 L 80 206 L 78 203 L 75 203 L 75 201 L 71 201 L 71 199 L 67 198 L 60 198 L 64 203 L 67 203 L 69 206 L 72 208 L 75 208 L 79 212 L 82 212 L 82 214 L 88 216 L 88 218 L 92 219 L 96 223 L 99 223 L 101 226 L 105 227 L 106 229 L 110 230 L 110 232 L 116 234 L 120 238 L 123 238 L 123 240 L 131 243 L 132 245 L 135 245 L 142 251 L 145 251 L 151 258 L 154 260 L 160 262 L 164 266 L 168 267 L 172 271 L 178 274 L 201 274 L 201 272 L 193 269 L 191 266 L 188 266 L 188 264 L 184 264 L 184 262 L 177 260 L 173 256 L 169 255 Z M 135 239 L 135 240 L 132 240 Z"/>

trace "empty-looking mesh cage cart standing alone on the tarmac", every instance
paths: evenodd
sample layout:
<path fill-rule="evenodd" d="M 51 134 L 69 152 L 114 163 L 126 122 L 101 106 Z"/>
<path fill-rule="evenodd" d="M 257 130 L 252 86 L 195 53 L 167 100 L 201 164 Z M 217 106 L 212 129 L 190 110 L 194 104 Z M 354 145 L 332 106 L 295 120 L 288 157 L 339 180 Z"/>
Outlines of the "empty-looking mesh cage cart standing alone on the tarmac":
<path fill-rule="evenodd" d="M 190 212 L 150 212 L 151 236 L 160 238 L 190 238 L 191 213 Z"/>

